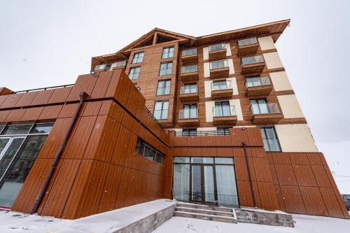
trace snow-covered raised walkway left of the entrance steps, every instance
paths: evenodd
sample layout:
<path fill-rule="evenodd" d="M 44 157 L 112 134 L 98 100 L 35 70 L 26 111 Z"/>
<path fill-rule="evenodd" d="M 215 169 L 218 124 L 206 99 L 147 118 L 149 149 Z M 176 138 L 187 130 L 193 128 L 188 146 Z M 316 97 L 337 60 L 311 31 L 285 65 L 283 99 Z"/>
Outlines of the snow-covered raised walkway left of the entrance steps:
<path fill-rule="evenodd" d="M 135 206 L 99 213 L 76 220 L 62 220 L 27 215 L 13 211 L 0 211 L 0 233 L 102 233 L 114 232 L 152 213 L 171 206 L 174 202 L 159 199 Z"/>

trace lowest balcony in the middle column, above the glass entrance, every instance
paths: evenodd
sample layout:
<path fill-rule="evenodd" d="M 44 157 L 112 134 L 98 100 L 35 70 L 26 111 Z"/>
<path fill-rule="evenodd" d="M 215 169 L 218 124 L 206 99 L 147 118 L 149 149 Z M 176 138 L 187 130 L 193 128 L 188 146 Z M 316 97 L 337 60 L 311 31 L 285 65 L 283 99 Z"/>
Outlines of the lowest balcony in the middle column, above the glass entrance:
<path fill-rule="evenodd" d="M 213 112 L 214 125 L 235 125 L 237 122 L 235 106 L 214 106 Z"/>

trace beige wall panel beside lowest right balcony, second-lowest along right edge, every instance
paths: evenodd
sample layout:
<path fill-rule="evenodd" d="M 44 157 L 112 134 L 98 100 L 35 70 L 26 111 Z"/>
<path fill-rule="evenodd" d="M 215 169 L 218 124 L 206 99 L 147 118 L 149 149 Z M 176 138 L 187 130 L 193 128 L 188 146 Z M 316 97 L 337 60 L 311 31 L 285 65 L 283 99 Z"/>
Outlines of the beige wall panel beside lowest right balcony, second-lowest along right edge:
<path fill-rule="evenodd" d="M 277 96 L 284 118 L 304 118 L 295 94 Z"/>

